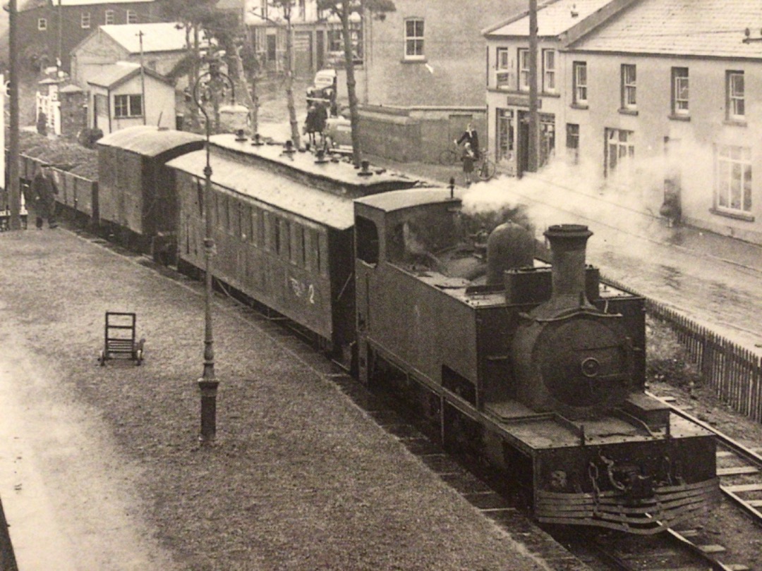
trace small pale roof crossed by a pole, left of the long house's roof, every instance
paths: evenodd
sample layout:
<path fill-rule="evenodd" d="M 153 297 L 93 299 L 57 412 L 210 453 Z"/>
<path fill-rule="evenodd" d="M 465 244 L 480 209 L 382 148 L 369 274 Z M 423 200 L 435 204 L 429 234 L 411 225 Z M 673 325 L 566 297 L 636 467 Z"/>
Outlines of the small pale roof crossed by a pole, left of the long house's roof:
<path fill-rule="evenodd" d="M 612 0 L 555 0 L 537 7 L 537 35 L 556 37 L 575 27 Z M 504 26 L 489 30 L 488 36 L 529 36 L 529 15 L 524 12 Z"/>

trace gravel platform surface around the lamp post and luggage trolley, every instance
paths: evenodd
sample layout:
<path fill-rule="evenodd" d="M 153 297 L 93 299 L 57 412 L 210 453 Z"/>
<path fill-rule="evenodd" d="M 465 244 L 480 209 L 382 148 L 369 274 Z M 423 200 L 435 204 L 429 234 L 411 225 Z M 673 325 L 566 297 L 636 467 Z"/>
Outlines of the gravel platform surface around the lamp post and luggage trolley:
<path fill-rule="evenodd" d="M 63 228 L 0 234 L 0 260 L 0 496 L 23 557 L 57 551 L 56 569 L 559 568 L 224 298 L 217 443 L 200 448 L 202 284 Z M 137 313 L 141 366 L 98 365 L 107 310 Z"/>

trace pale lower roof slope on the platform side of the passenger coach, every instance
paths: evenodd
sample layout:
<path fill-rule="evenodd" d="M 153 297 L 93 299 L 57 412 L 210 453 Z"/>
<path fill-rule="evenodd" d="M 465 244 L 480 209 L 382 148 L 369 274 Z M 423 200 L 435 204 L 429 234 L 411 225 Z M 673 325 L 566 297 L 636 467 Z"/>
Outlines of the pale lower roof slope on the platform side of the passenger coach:
<path fill-rule="evenodd" d="M 203 179 L 206 151 L 181 155 L 167 164 Z M 338 230 L 346 230 L 354 224 L 352 200 L 347 197 L 316 190 L 232 158 L 211 155 L 210 164 L 212 182 L 219 186 Z"/>

